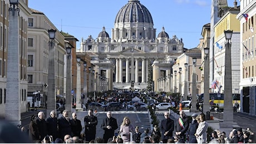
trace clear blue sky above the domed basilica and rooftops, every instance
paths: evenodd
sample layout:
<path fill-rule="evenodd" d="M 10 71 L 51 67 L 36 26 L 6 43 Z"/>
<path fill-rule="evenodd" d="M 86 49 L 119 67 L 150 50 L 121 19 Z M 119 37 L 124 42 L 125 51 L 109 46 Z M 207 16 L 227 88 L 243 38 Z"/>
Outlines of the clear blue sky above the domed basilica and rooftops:
<path fill-rule="evenodd" d="M 77 48 L 81 39 L 92 35 L 96 39 L 106 28 L 111 38 L 116 14 L 128 0 L 29 0 L 28 7 L 43 12 L 57 27 L 75 36 Z M 228 6 L 234 7 L 234 0 Z M 240 2 L 238 6 L 240 6 Z M 151 13 L 156 36 L 165 28 L 169 37 L 183 38 L 184 48 L 195 48 L 201 38 L 204 24 L 210 23 L 210 0 L 140 0 Z"/>

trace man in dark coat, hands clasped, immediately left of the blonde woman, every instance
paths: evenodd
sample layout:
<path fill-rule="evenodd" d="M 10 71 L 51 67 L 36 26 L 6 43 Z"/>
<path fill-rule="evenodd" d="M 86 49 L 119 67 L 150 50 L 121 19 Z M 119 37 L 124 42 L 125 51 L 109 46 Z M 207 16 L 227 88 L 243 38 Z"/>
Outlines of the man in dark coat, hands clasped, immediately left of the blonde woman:
<path fill-rule="evenodd" d="M 104 141 L 107 143 L 109 138 L 112 138 L 115 135 L 115 130 L 118 128 L 117 121 L 112 117 L 111 111 L 107 112 L 107 117 L 103 119 L 101 128 L 104 130 Z"/>

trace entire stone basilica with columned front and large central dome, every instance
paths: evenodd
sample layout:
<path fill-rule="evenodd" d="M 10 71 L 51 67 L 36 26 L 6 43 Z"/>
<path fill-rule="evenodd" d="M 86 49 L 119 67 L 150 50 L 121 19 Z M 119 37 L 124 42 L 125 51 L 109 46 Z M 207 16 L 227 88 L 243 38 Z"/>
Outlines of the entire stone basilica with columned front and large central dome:
<path fill-rule="evenodd" d="M 77 50 L 91 57 L 95 73 L 110 81 L 110 90 L 129 88 L 131 83 L 143 89 L 149 80 L 157 90 L 157 79 L 173 73 L 171 66 L 183 52 L 183 40 L 169 37 L 164 27 L 156 36 L 149 10 L 137 0 L 129 0 L 117 13 L 111 37 L 103 27 L 96 39 L 82 39 Z"/>

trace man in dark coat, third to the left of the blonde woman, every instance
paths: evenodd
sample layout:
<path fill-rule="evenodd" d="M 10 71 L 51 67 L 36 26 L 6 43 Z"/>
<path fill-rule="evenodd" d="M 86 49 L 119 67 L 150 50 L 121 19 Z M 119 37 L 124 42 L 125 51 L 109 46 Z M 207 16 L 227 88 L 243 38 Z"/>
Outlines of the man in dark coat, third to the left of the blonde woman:
<path fill-rule="evenodd" d="M 70 120 L 71 123 L 71 131 L 72 131 L 72 137 L 77 136 L 81 138 L 81 131 L 82 131 L 82 125 L 81 121 L 77 120 L 76 112 L 72 113 L 72 119 Z"/>

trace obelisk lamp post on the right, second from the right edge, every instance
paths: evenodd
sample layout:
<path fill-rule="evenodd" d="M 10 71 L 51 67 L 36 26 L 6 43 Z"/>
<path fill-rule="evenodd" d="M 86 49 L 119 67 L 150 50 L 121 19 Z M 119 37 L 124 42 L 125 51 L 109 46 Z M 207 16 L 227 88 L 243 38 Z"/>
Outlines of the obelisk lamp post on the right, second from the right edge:
<path fill-rule="evenodd" d="M 203 112 L 206 114 L 210 110 L 209 94 L 209 48 L 204 48 L 204 107 Z"/>

